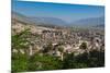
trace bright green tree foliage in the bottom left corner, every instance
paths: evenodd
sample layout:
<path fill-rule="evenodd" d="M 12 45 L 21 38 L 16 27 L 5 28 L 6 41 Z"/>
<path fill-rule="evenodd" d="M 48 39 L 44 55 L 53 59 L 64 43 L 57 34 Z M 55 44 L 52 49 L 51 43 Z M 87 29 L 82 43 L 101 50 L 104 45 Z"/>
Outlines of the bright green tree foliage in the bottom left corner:
<path fill-rule="evenodd" d="M 13 53 L 11 60 L 12 60 L 11 63 L 12 72 L 28 71 L 29 57 L 26 54 Z"/>

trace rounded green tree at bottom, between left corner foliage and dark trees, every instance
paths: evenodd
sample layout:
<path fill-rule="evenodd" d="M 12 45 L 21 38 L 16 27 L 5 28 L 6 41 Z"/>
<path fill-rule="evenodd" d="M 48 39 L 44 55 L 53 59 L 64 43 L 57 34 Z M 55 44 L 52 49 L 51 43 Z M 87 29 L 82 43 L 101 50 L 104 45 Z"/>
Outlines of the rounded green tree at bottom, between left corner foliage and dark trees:
<path fill-rule="evenodd" d="M 58 70 L 62 69 L 62 62 L 50 54 L 34 54 L 30 58 L 29 71 L 44 71 L 44 70 Z"/>

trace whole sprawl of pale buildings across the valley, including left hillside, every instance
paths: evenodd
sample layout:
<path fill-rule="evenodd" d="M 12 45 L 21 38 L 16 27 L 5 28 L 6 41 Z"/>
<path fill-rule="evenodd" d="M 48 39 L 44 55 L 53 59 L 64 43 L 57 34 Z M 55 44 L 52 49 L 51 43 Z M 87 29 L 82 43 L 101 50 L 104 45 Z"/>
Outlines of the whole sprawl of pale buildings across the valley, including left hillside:
<path fill-rule="evenodd" d="M 47 53 L 54 56 L 61 56 L 61 51 L 57 48 L 58 46 L 63 48 L 63 52 L 75 52 L 75 54 L 82 53 L 86 50 L 105 50 L 105 35 L 100 31 L 73 31 L 72 28 L 55 29 L 50 27 L 40 27 L 35 25 L 22 25 L 20 23 L 18 23 L 18 25 L 13 25 L 12 29 L 20 32 L 21 29 L 24 29 L 24 27 L 29 27 L 31 29 L 32 35 L 30 36 L 38 35 L 38 38 L 29 38 L 29 40 L 31 41 L 31 45 L 29 47 L 30 56 L 41 51 L 42 49 L 44 49 L 44 46 L 46 46 L 50 42 L 52 44 L 53 49 Z M 86 50 L 80 48 L 80 45 L 82 42 L 87 44 Z M 18 51 L 13 49 L 13 52 Z M 24 53 L 22 49 L 21 52 Z"/>

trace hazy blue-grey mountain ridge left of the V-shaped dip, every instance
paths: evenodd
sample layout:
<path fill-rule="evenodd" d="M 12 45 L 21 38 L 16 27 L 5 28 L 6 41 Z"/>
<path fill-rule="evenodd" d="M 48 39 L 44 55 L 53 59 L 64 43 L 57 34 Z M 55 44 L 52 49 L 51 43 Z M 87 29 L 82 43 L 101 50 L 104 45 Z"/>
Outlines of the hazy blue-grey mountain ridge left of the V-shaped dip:
<path fill-rule="evenodd" d="M 35 24 L 35 25 L 56 25 L 56 26 L 65 26 L 67 23 L 63 21 L 62 19 L 56 17 L 30 17 L 25 16 L 23 14 L 12 12 L 12 19 L 16 19 L 21 22 L 25 22 L 29 24 Z"/>

